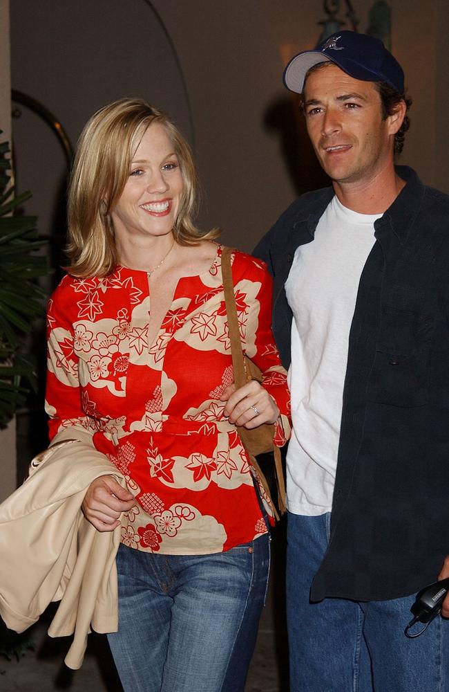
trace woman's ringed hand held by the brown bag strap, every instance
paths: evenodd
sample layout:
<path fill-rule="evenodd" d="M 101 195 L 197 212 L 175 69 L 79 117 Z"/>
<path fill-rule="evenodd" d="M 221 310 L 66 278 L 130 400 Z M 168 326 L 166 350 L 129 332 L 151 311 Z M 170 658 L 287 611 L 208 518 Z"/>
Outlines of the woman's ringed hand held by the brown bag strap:
<path fill-rule="evenodd" d="M 222 392 L 220 401 L 226 401 L 225 416 L 229 422 L 249 430 L 262 423 L 276 423 L 279 417 L 273 397 L 256 380 L 251 380 L 239 390 L 236 390 L 236 385 L 229 385 Z"/>

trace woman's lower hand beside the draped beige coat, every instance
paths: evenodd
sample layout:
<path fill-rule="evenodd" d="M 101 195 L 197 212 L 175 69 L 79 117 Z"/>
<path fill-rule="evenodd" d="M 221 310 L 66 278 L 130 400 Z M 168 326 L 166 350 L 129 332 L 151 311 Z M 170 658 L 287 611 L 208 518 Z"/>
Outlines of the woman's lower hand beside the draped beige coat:
<path fill-rule="evenodd" d="M 134 496 L 112 476 L 99 476 L 90 483 L 82 503 L 84 516 L 97 531 L 113 531 L 120 514 L 137 504 Z"/>

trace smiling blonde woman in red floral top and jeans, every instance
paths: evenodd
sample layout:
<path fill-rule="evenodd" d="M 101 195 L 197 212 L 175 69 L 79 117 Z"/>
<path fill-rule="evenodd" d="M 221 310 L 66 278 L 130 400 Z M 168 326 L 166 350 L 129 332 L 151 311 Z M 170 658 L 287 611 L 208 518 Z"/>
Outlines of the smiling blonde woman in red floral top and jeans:
<path fill-rule="evenodd" d="M 68 204 L 70 266 L 48 308 L 50 437 L 92 436 L 124 473 L 90 484 L 98 531 L 122 524 L 126 691 L 242 690 L 267 588 L 269 536 L 236 425 L 289 434 L 270 329 L 271 280 L 235 253 L 242 339 L 263 372 L 235 391 L 216 232 L 193 225 L 191 152 L 173 123 L 124 99 L 90 119 Z"/>

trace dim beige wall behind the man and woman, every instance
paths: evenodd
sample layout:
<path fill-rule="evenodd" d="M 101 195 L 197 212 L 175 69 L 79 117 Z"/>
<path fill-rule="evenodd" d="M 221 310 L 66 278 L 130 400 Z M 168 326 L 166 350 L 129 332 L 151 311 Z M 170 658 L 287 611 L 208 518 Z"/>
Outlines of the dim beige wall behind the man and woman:
<path fill-rule="evenodd" d="M 373 2 L 355 3 L 360 30 L 367 28 Z M 447 109 L 441 107 L 449 91 L 449 3 L 428 0 L 426 21 L 421 0 L 390 0 L 390 6 L 392 49 L 414 98 L 401 161 L 416 167 L 426 183 L 449 192 Z M 152 7 L 178 55 L 189 114 Z M 68 12 L 57 0 L 44 5 L 15 0 L 11 14 L 14 86 L 55 111 L 73 140 L 95 108 L 126 93 L 142 93 L 178 119 L 193 140 L 204 188 L 200 226 L 221 226 L 225 242 L 250 250 L 298 192 L 323 184 L 293 97 L 281 82 L 288 58 L 316 44 L 323 3 L 79 0 Z M 82 30 L 86 19 L 88 32 Z M 136 27 L 137 58 L 128 43 Z M 44 34 L 51 41 L 42 46 Z M 64 161 L 45 125 L 31 123 L 35 132 L 28 139 L 25 115 L 14 127 L 21 188 L 33 190 L 30 212 L 38 213 L 46 232 L 55 196 L 61 195 Z M 50 155 L 43 168 L 44 141 Z M 28 180 L 33 163 L 37 173 Z"/>

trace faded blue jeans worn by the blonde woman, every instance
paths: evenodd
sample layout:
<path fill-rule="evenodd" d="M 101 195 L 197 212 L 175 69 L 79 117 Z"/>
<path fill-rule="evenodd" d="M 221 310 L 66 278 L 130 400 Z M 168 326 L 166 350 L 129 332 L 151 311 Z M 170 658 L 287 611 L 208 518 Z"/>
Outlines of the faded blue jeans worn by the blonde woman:
<path fill-rule="evenodd" d="M 125 692 L 243 691 L 269 552 L 268 534 L 212 555 L 120 545 L 119 631 L 108 641 Z"/>

